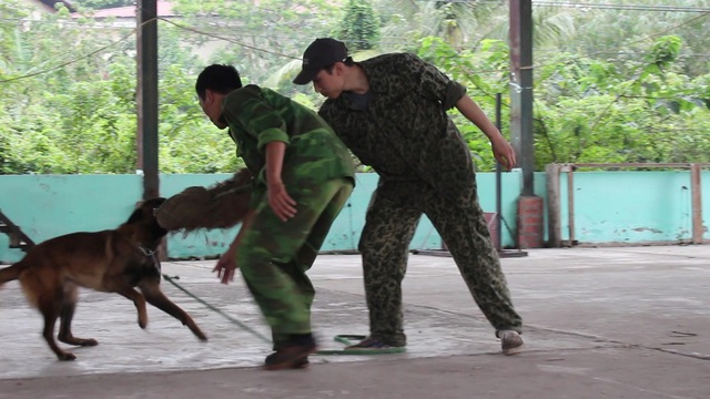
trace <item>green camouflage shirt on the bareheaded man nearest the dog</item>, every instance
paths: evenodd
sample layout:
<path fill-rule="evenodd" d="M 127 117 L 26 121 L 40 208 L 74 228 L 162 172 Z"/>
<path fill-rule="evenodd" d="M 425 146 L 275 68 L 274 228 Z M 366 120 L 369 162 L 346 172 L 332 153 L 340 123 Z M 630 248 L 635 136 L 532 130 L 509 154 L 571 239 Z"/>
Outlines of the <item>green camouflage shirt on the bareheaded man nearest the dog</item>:
<path fill-rule="evenodd" d="M 287 144 L 282 171 L 286 184 L 354 178 L 352 156 L 327 123 L 273 90 L 246 85 L 231 92 L 224 98 L 222 119 L 257 185 L 266 182 L 265 146 L 274 141 Z"/>

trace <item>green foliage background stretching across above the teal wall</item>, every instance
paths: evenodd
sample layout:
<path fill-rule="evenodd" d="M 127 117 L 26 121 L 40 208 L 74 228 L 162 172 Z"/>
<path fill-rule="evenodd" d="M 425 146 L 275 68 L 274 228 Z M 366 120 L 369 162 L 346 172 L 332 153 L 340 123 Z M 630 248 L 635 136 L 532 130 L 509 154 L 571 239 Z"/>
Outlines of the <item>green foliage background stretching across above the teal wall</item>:
<path fill-rule="evenodd" d="M 551 162 L 710 162 L 710 0 L 632 2 L 534 3 L 538 170 Z M 132 2 L 72 3 L 79 13 L 0 3 L 0 174 L 134 173 L 135 22 L 93 13 Z M 505 0 L 172 3 L 175 14 L 159 20 L 163 173 L 239 165 L 234 144 L 197 105 L 202 68 L 233 64 L 245 83 L 317 109 L 323 99 L 291 80 L 303 49 L 324 35 L 346 41 L 356 60 L 415 52 L 467 85 L 491 117 L 501 93 L 507 134 Z M 486 137 L 450 114 L 478 170 L 493 170 Z"/>

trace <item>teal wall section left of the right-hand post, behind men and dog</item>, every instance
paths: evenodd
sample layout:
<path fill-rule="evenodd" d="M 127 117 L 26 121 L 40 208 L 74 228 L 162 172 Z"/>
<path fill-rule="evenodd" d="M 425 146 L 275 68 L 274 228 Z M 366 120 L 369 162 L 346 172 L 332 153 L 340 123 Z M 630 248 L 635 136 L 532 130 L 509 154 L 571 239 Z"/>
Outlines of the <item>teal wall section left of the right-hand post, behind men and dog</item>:
<path fill-rule="evenodd" d="M 229 174 L 161 175 L 161 195 L 170 196 L 193 185 L 211 185 Z M 478 174 L 480 204 L 495 212 L 495 174 Z M 505 173 L 503 215 L 515 231 L 520 173 Z M 335 221 L 323 250 L 353 250 L 365 223 L 365 211 L 377 184 L 376 174 L 358 174 L 348 204 Z M 0 176 L 0 211 L 19 225 L 36 243 L 72 232 L 115 228 L 131 214 L 142 193 L 139 175 L 6 175 Z M 237 228 L 172 234 L 168 241 L 172 258 L 203 258 L 222 254 Z M 513 246 L 510 233 L 503 228 L 503 245 Z M 8 247 L 8 236 L 0 234 L 0 263 L 19 260 L 23 253 Z M 410 243 L 412 249 L 442 248 L 442 239 L 430 222 L 423 217 Z"/>

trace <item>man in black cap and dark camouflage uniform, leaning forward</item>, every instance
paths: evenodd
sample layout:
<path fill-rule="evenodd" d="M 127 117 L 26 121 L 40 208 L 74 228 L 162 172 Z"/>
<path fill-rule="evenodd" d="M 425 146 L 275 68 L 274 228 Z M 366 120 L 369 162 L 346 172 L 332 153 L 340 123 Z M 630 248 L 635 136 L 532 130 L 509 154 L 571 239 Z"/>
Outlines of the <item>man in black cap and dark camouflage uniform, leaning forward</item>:
<path fill-rule="evenodd" d="M 353 62 L 344 43 L 317 39 L 304 52 L 296 84 L 313 82 L 327 98 L 320 110 L 379 183 L 359 242 L 369 337 L 353 349 L 404 347 L 402 280 L 422 214 L 432 221 L 468 289 L 501 339 L 503 352 L 523 348 L 498 254 L 478 204 L 468 146 L 447 115 L 456 106 L 490 140 L 508 170 L 515 152 L 466 88 L 414 54 Z"/>

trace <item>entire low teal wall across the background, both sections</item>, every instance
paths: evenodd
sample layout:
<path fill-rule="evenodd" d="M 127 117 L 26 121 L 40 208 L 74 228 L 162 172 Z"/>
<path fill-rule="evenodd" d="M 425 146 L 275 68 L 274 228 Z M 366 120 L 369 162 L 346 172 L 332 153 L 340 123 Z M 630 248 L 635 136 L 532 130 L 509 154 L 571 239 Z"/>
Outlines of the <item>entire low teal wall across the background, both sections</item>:
<path fill-rule="evenodd" d="M 230 177 L 161 175 L 161 193 L 173 195 L 192 185 L 211 185 Z M 692 209 L 689 171 L 575 172 L 575 238 L 580 244 L 689 243 Z M 501 175 L 503 246 L 514 247 L 519 171 Z M 495 212 L 494 173 L 479 173 L 478 194 L 485 212 Z M 535 174 L 535 192 L 546 197 L 546 175 Z M 323 250 L 357 247 L 365 211 L 377 184 L 376 174 L 358 174 L 357 186 L 327 236 Z M 710 171 L 701 174 L 703 225 L 710 217 Z M 560 176 L 561 237 L 569 239 L 567 174 Z M 0 211 L 37 243 L 71 232 L 115 228 L 141 197 L 138 175 L 9 175 L 0 176 Z M 545 198 L 547 200 L 547 198 Z M 547 221 L 547 206 L 545 219 Z M 547 236 L 547 224 L 545 224 Z M 172 258 L 214 257 L 224 252 L 237 228 L 169 236 Z M 8 247 L 0 234 L 0 263 L 17 262 L 19 249 Z M 439 249 L 442 241 L 426 217 L 410 243 L 412 249 Z"/>

